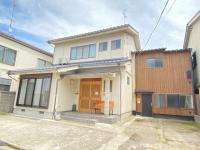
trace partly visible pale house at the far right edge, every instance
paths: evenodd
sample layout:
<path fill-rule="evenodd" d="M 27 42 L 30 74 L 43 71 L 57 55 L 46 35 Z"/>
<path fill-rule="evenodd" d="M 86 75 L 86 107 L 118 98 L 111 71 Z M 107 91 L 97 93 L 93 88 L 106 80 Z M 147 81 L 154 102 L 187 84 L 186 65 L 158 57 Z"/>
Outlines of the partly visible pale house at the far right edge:
<path fill-rule="evenodd" d="M 183 48 L 192 48 L 195 93 L 200 90 L 200 11 L 188 22 Z"/>

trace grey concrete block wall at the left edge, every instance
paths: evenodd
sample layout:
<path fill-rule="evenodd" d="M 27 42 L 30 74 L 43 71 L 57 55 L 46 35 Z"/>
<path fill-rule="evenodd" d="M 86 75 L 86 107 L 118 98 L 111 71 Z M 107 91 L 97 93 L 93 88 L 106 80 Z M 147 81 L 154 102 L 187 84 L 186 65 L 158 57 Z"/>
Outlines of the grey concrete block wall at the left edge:
<path fill-rule="evenodd" d="M 0 112 L 13 112 L 15 92 L 0 92 Z"/>

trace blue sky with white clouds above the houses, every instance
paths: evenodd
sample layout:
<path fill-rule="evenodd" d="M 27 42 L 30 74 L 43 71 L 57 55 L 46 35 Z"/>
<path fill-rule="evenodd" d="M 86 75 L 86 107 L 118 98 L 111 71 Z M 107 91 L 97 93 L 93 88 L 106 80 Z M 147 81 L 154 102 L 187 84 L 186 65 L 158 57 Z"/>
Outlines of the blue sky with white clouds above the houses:
<path fill-rule="evenodd" d="M 0 1 L 0 31 L 9 33 L 13 0 Z M 15 0 L 13 32 L 10 34 L 53 52 L 48 40 L 126 23 L 140 34 L 142 47 L 166 0 Z M 170 0 L 161 22 L 145 49 L 183 46 L 187 22 L 199 10 L 199 0 Z M 168 12 L 168 13 L 167 13 Z"/>

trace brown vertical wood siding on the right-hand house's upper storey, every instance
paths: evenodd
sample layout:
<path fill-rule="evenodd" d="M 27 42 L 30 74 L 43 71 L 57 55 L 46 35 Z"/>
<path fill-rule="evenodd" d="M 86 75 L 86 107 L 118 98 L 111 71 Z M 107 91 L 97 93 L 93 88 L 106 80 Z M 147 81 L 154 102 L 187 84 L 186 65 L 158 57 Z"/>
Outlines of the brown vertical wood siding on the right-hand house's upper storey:
<path fill-rule="evenodd" d="M 163 67 L 147 68 L 148 58 L 163 58 Z M 192 94 L 192 80 L 186 72 L 191 69 L 189 51 L 182 52 L 144 52 L 136 54 L 136 91 L 155 93 Z"/>

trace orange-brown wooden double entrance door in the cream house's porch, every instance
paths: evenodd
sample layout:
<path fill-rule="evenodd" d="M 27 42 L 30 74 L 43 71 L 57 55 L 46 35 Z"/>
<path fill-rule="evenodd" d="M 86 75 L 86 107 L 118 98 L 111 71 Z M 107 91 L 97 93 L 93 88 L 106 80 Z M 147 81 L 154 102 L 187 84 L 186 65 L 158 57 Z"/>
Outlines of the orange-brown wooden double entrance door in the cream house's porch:
<path fill-rule="evenodd" d="M 101 100 L 102 81 L 99 78 L 81 79 L 79 94 L 79 111 L 90 112 L 91 107 Z"/>

